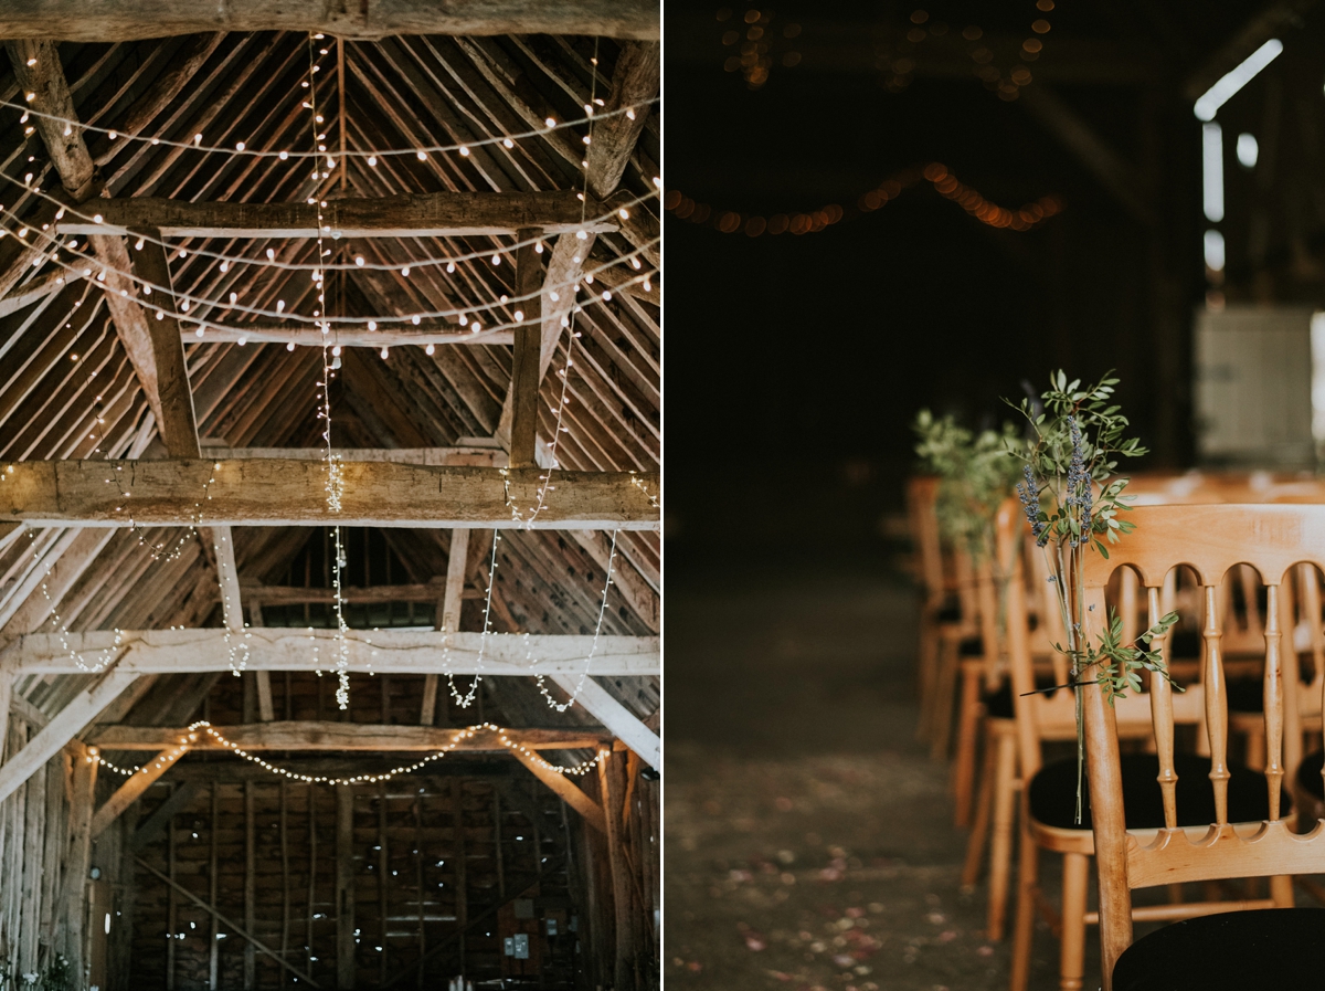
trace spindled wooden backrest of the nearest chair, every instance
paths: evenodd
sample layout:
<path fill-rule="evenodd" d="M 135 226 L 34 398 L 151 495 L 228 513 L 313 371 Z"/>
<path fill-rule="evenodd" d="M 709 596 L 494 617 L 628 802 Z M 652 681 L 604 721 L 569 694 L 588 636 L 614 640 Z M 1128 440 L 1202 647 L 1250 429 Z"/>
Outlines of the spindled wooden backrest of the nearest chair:
<path fill-rule="evenodd" d="M 1325 564 L 1325 505 L 1138 506 L 1129 518 L 1136 530 L 1110 548 L 1108 560 L 1094 551 L 1085 555 L 1088 641 L 1097 643 L 1100 629 L 1108 621 L 1105 587 L 1117 568 L 1136 570 L 1146 590 L 1151 623 L 1161 615 L 1159 591 L 1166 575 L 1179 564 L 1195 572 L 1204 604 L 1202 686 L 1215 821 L 1200 836 L 1189 835 L 1178 827 L 1174 772 L 1177 700 L 1170 685 L 1157 677 L 1151 680 L 1149 702 L 1159 759 L 1165 828 L 1154 837 L 1129 835 L 1118 756 L 1124 702 L 1110 706 L 1097 684 L 1083 689 L 1106 982 L 1112 979 L 1114 962 L 1132 942 L 1133 888 L 1220 877 L 1325 872 L 1325 824 L 1309 836 L 1295 836 L 1280 817 L 1285 651 L 1279 601 L 1283 583 L 1292 580 L 1298 564 Z M 1218 595 L 1224 575 L 1236 564 L 1255 568 L 1267 592 L 1263 689 L 1264 772 L 1269 808 L 1269 819 L 1264 824 L 1239 831 L 1228 823 L 1228 700 Z M 1157 639 L 1154 647 L 1162 651 L 1162 639 Z"/>

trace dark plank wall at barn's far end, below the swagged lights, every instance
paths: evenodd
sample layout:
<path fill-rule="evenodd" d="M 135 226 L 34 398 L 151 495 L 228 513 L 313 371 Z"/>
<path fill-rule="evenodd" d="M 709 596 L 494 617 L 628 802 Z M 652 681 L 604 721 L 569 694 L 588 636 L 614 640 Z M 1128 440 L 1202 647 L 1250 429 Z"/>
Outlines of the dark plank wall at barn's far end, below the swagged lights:
<path fill-rule="evenodd" d="M 167 800 L 172 787 L 151 788 L 142 815 Z M 502 799 L 510 790 L 517 790 L 514 803 Z M 347 921 L 352 914 L 347 933 L 355 937 L 355 987 L 444 986 L 461 966 L 473 978 L 501 975 L 502 938 L 509 933 L 500 913 L 472 929 L 462 947 L 452 939 L 427 954 L 456 934 L 457 918 L 478 922 L 534 881 L 538 888 L 526 897 L 539 918 L 578 912 L 567 890 L 559 802 L 533 778 L 416 775 L 355 786 L 348 790 L 348 837 L 338 835 L 337 791 L 265 775 L 211 782 L 140 856 L 227 919 L 250 923 L 256 939 L 323 988 L 338 987 L 338 885 L 352 900 L 346 914 Z M 530 823 L 515 803 L 538 808 L 543 821 Z M 338 851 L 348 853 L 347 865 L 338 862 Z M 545 857 L 556 868 L 539 877 Z M 138 869 L 135 889 L 127 987 L 213 986 L 211 914 L 187 898 L 176 897 L 172 905 L 172 889 L 146 868 Z M 250 953 L 233 929 L 221 923 L 219 933 L 215 986 L 295 986 L 293 974 Z M 546 986 L 572 986 L 575 942 L 564 927 L 556 937 L 541 937 Z"/>

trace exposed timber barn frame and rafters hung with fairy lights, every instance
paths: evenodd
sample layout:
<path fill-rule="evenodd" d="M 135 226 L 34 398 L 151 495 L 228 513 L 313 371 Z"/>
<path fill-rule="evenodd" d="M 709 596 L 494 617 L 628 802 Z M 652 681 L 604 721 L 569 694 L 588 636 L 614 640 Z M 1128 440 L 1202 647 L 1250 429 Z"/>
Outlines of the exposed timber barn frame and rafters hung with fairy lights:
<path fill-rule="evenodd" d="M 102 987 L 216 987 L 232 927 L 244 987 L 465 967 L 655 986 L 657 5 L 354 7 L 0 12 L 0 967 L 61 955 Z M 295 800 L 235 746 L 313 778 L 448 755 L 390 794 L 374 778 Z M 292 910 L 285 861 L 284 929 L 258 934 L 254 816 L 303 815 L 315 837 L 326 791 L 337 839 L 303 856 L 310 877 L 335 857 L 343 910 L 319 962 L 322 897 L 310 880 Z M 420 860 L 408 939 L 379 892 L 376 950 L 352 926 L 351 874 L 378 856 L 354 845 L 364 802 L 383 837 L 415 817 L 424 836 L 440 803 L 441 860 L 460 861 L 439 908 Z M 209 894 L 175 874 L 188 815 L 207 819 L 195 840 L 221 837 Z M 543 896 L 521 893 L 551 900 L 526 957 L 492 943 L 521 902 L 464 894 L 480 827 L 489 886 L 518 886 L 513 815 L 542 844 Z M 231 827 L 248 860 L 227 914 Z M 78 921 L 102 897 L 138 921 L 107 914 L 102 939 Z M 212 931 L 200 957 L 176 933 L 186 902 Z M 553 938 L 576 910 L 584 959 Z M 183 942 L 144 943 L 146 919 Z"/>

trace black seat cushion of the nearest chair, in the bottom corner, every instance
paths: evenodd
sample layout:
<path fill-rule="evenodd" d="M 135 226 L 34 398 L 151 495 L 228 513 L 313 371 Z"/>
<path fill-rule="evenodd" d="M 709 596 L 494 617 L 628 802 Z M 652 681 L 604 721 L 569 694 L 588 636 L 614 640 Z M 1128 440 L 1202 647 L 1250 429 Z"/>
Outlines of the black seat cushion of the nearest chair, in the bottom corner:
<path fill-rule="evenodd" d="M 1222 912 L 1138 939 L 1113 991 L 1252 991 L 1325 986 L 1325 909 Z"/>

